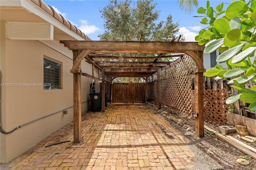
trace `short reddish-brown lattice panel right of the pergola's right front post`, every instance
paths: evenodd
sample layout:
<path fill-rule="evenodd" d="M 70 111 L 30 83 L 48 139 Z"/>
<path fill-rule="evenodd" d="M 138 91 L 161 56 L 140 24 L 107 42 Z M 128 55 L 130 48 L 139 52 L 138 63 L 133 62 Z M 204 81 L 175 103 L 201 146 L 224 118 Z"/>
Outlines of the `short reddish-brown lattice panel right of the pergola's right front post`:
<path fill-rule="evenodd" d="M 225 103 L 228 99 L 227 89 L 208 89 L 204 90 L 204 121 L 215 125 L 226 125 L 228 109 L 232 105 Z"/>

